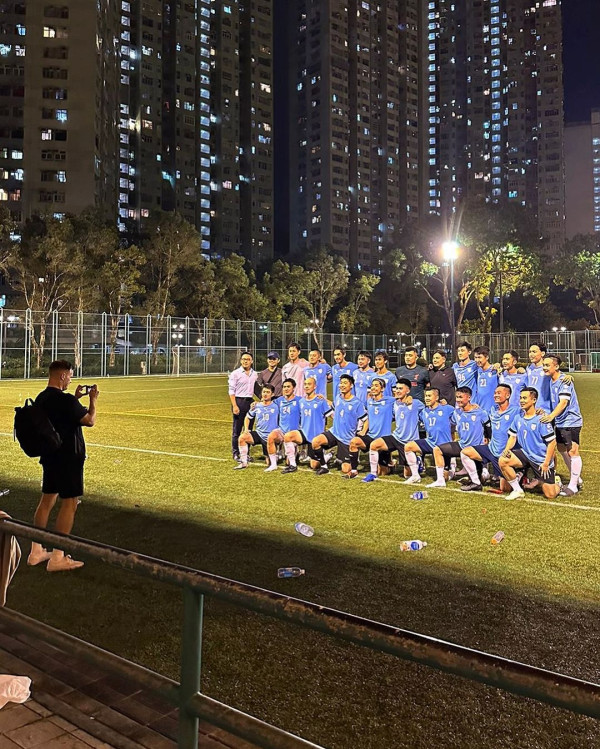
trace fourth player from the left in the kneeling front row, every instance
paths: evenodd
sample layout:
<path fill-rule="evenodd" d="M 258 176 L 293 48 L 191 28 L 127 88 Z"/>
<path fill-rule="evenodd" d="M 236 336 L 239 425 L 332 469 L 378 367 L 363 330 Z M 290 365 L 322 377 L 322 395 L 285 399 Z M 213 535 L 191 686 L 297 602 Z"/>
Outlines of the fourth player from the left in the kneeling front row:
<path fill-rule="evenodd" d="M 340 394 L 334 403 L 331 429 L 318 434 L 312 441 L 315 458 L 320 463 L 317 476 L 329 473 L 325 462 L 325 447 L 337 447 L 337 458 L 342 461 L 342 473 L 350 473 L 350 442 L 357 434 L 366 434 L 369 426 L 367 410 L 352 393 L 354 377 L 342 375 L 338 387 Z"/>

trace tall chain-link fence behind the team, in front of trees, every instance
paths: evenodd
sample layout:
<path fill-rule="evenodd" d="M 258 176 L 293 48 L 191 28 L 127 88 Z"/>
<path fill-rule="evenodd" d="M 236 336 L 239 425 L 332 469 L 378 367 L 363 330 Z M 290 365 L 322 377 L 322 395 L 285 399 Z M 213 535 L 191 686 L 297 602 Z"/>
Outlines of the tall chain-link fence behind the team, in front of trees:
<path fill-rule="evenodd" d="M 524 361 L 531 343 L 541 340 L 548 350 L 560 354 L 571 369 L 600 371 L 597 330 L 471 335 L 468 340 L 473 346 L 489 346 L 494 360 L 503 351 L 514 349 Z M 277 351 L 285 361 L 291 342 L 297 342 L 304 353 L 318 345 L 328 361 L 337 345 L 346 348 L 351 360 L 356 360 L 358 351 L 363 349 L 385 350 L 390 367 L 395 367 L 407 346 L 415 346 L 429 359 L 436 349 L 449 347 L 449 336 L 400 332 L 315 334 L 296 324 L 255 320 L 156 320 L 150 315 L 0 309 L 0 377 L 42 377 L 54 359 L 73 362 L 78 377 L 218 374 L 238 366 L 240 353 L 246 349 L 254 354 L 260 369 L 269 351 Z"/>

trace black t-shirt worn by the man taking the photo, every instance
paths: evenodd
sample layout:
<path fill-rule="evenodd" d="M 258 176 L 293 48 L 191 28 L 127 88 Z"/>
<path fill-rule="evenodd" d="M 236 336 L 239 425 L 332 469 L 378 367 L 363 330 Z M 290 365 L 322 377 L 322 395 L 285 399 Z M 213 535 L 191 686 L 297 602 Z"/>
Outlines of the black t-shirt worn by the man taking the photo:
<path fill-rule="evenodd" d="M 59 449 L 40 460 L 40 463 L 78 462 L 85 459 L 85 442 L 81 419 L 87 414 L 79 400 L 71 393 L 47 387 L 35 402 L 48 414 L 53 427 L 62 438 Z"/>

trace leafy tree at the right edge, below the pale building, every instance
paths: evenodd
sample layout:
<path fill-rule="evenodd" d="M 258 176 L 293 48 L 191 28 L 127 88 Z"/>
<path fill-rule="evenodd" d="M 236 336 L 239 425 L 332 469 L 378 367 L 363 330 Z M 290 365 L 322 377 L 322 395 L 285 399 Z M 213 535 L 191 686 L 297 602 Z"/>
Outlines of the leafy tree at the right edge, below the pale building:
<path fill-rule="evenodd" d="M 568 240 L 555 263 L 555 281 L 574 289 L 600 325 L 600 237 L 578 234 Z"/>

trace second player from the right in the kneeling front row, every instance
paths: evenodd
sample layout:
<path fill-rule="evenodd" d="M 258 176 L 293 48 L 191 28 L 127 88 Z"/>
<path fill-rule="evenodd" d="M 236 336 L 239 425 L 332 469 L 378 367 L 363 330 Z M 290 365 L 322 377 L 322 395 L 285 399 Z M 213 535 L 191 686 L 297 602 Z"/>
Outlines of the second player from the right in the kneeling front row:
<path fill-rule="evenodd" d="M 492 426 L 492 436 L 487 445 L 473 445 L 461 450 L 460 459 L 467 469 L 470 484 L 463 484 L 461 491 L 475 492 L 481 490 L 481 478 L 476 463 L 491 463 L 496 476 L 500 476 L 500 489 L 510 491 L 510 486 L 500 470 L 500 456 L 502 455 L 508 441 L 508 430 L 512 426 L 515 417 L 520 413 L 520 406 L 510 403 L 510 385 L 498 385 L 494 390 L 494 406 L 488 411 Z"/>

